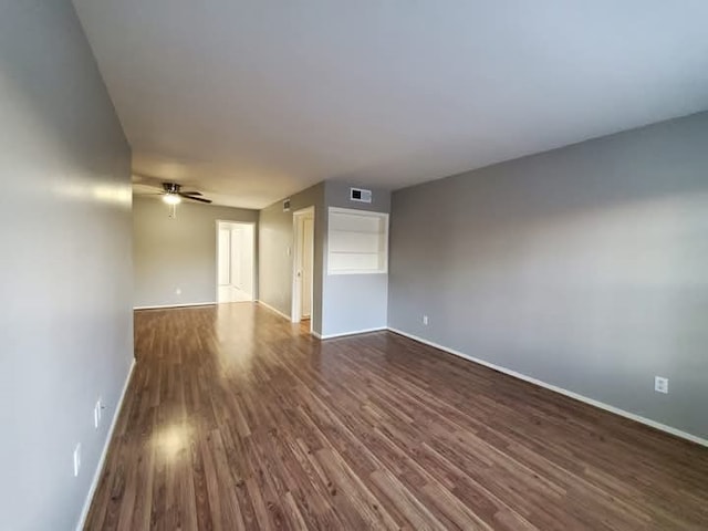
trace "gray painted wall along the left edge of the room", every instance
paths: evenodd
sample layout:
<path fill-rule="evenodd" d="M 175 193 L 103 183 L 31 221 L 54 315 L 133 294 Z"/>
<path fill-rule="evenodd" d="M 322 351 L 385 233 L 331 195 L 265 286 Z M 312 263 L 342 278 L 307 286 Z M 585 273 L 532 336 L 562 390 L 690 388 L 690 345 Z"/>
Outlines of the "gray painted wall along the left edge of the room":
<path fill-rule="evenodd" d="M 0 3 L 0 529 L 69 530 L 133 362 L 131 152 L 69 0 Z"/>

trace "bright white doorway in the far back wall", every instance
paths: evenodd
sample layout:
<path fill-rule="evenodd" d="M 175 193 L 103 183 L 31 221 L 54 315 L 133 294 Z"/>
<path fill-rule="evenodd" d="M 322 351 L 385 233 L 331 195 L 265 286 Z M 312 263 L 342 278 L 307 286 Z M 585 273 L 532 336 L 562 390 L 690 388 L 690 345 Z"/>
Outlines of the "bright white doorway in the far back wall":
<path fill-rule="evenodd" d="M 253 301 L 254 226 L 217 221 L 217 302 Z"/>

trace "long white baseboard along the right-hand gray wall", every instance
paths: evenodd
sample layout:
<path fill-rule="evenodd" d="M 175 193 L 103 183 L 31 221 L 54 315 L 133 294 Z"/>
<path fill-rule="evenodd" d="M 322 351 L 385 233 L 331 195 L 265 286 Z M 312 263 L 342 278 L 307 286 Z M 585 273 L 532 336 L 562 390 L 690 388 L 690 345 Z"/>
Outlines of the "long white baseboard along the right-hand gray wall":
<path fill-rule="evenodd" d="M 615 415 L 620 415 L 621 417 L 629 418 L 637 423 L 645 424 L 653 428 L 659 429 L 662 431 L 666 431 L 667 434 L 675 435 L 676 437 L 680 437 L 681 439 L 690 440 L 691 442 L 696 442 L 701 446 L 708 447 L 708 439 L 704 439 L 696 435 L 688 434 L 686 431 L 681 431 L 680 429 L 673 428 L 671 426 L 667 426 L 662 423 L 657 423 L 656 420 L 652 420 L 650 418 L 642 417 L 639 415 L 635 415 L 634 413 L 625 412 L 624 409 L 620 409 L 618 407 L 611 406 L 610 404 L 605 404 L 604 402 L 595 400 L 594 398 L 589 398 L 583 395 L 579 395 L 577 393 L 573 393 L 572 391 L 564 389 L 563 387 L 559 387 L 556 385 L 548 384 L 541 379 L 533 378 L 531 376 L 527 376 L 525 374 L 517 373 L 516 371 L 511 371 L 510 368 L 502 367 L 500 365 L 494 365 L 493 363 L 486 362 L 483 360 L 479 360 L 477 357 L 465 354 L 464 352 L 456 351 L 455 348 L 449 348 L 447 346 L 440 345 L 438 343 L 434 343 L 431 341 L 425 340 L 417 335 L 409 334 L 404 332 L 403 330 L 392 329 L 388 326 L 391 332 L 395 334 L 403 335 L 410 340 L 417 341 L 418 343 L 424 343 L 426 345 L 433 346 L 440 351 L 450 353 L 455 356 L 462 357 L 469 362 L 478 363 L 489 368 L 493 368 L 494 371 L 499 371 L 500 373 L 508 374 L 509 376 L 513 376 L 514 378 L 523 379 L 524 382 L 529 382 L 531 384 L 538 385 L 539 387 L 544 387 L 546 389 L 553 391 L 555 393 L 560 393 L 561 395 L 569 396 L 580 402 L 584 402 L 585 404 L 590 404 L 591 406 L 598 407 L 600 409 L 604 409 L 610 413 L 614 413 Z"/>

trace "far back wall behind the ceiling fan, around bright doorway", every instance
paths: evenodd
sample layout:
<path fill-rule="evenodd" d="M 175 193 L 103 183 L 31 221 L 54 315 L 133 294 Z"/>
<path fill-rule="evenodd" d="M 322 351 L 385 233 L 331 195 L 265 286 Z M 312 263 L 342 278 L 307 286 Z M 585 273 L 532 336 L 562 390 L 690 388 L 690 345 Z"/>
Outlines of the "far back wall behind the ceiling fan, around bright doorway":
<path fill-rule="evenodd" d="M 217 220 L 257 223 L 258 211 L 183 201 L 177 206 L 177 217 L 170 218 L 168 206 L 163 201 L 135 198 L 133 300 L 136 308 L 216 302 Z M 258 258 L 254 271 L 257 274 Z M 258 279 L 253 285 L 258 285 Z M 176 293 L 177 289 L 181 294 Z"/>

